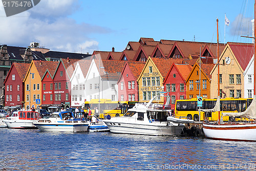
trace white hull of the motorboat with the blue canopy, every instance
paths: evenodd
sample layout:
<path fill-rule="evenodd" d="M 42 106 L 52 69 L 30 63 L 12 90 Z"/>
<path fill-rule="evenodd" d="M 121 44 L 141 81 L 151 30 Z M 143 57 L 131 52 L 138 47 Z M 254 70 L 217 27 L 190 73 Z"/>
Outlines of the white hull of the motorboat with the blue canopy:
<path fill-rule="evenodd" d="M 85 132 L 88 129 L 88 123 L 34 123 L 40 131 L 55 132 Z"/>

